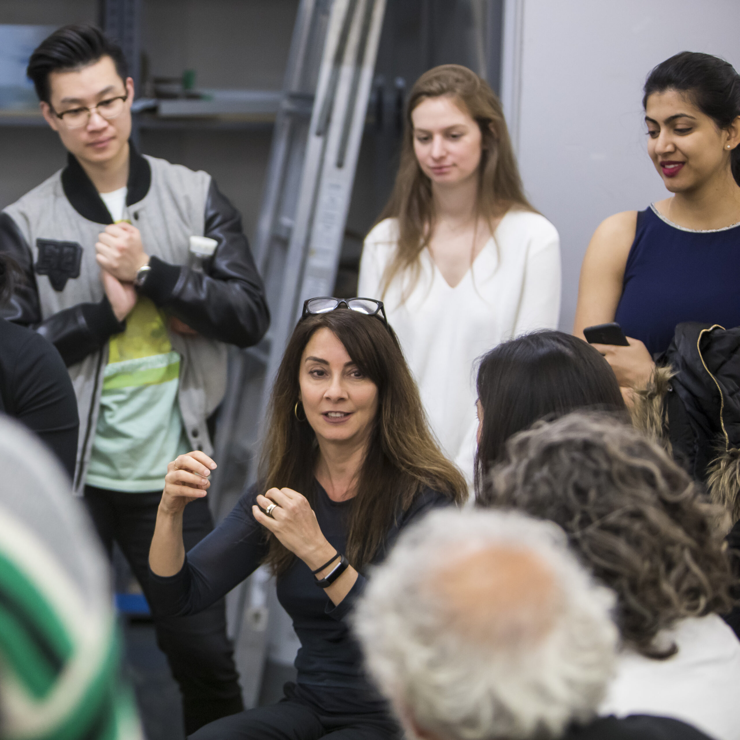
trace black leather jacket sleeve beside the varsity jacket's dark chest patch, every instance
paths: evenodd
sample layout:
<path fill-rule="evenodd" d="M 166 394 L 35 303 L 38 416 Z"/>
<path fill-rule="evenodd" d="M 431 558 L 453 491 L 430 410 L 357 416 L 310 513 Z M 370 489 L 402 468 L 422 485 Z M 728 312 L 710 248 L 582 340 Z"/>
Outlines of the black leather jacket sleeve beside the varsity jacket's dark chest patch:
<path fill-rule="evenodd" d="M 126 328 L 126 323 L 115 317 L 107 297 L 100 303 L 78 303 L 42 321 L 31 249 L 7 213 L 0 213 L 0 252 L 13 257 L 24 276 L 13 297 L 1 307 L 2 316 L 21 326 L 30 326 L 46 337 L 58 349 L 67 367 L 98 351 L 112 334 Z"/>

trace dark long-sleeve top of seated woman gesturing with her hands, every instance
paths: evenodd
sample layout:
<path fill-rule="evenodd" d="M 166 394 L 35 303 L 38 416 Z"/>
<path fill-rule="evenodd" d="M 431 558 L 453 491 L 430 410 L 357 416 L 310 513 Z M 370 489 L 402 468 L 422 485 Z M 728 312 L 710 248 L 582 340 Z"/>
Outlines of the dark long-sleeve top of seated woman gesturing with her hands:
<path fill-rule="evenodd" d="M 175 576 L 150 573 L 152 607 L 161 615 L 197 613 L 249 576 L 267 554 L 265 531 L 252 515 L 258 491 L 249 488 L 226 519 L 186 555 Z M 431 508 L 447 505 L 448 497 L 426 488 L 408 511 L 397 517 L 374 559 L 380 562 L 400 530 Z M 335 502 L 315 482 L 312 506 L 326 539 L 338 552 L 346 550 L 349 501 Z M 360 646 L 351 636 L 347 616 L 366 585 L 357 574 L 351 591 L 336 606 L 317 587 L 308 565 L 295 558 L 277 579 L 277 598 L 293 620 L 300 639 L 295 659 L 297 696 L 327 713 L 375 713 L 386 704 L 369 684 L 362 668 Z"/>

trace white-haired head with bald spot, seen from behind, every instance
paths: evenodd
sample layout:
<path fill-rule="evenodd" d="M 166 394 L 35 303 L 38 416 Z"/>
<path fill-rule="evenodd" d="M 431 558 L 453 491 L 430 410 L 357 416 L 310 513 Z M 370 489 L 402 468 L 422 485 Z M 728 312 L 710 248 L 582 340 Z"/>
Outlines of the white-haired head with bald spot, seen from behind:
<path fill-rule="evenodd" d="M 596 713 L 618 642 L 612 605 L 550 522 L 446 509 L 374 569 L 355 627 L 412 736 L 547 740 Z"/>

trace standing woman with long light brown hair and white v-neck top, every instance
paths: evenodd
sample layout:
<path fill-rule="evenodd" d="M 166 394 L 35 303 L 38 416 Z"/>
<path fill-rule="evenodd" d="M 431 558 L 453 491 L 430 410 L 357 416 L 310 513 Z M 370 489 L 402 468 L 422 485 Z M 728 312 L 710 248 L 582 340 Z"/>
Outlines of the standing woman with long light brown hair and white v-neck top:
<path fill-rule="evenodd" d="M 365 240 L 358 293 L 383 298 L 431 427 L 471 483 L 474 360 L 556 328 L 560 252 L 522 191 L 498 98 L 465 67 L 435 67 L 411 90 L 396 184 Z"/>

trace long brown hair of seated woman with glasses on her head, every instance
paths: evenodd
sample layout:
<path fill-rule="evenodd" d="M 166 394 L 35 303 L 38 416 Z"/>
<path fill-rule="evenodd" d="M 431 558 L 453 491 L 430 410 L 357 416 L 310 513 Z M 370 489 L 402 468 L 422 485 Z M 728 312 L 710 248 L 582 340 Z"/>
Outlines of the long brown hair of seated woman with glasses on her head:
<path fill-rule="evenodd" d="M 374 428 L 352 499 L 347 528 L 349 562 L 360 570 L 371 562 L 396 517 L 425 487 L 455 503 L 468 495 L 465 479 L 447 460 L 429 431 L 414 378 L 393 330 L 374 316 L 339 309 L 297 323 L 290 338 L 270 400 L 260 489 L 292 488 L 313 505 L 314 468 L 319 452 L 316 435 L 298 420 L 300 360 L 319 329 L 329 329 L 378 390 Z M 272 534 L 266 562 L 278 576 L 294 555 Z"/>

